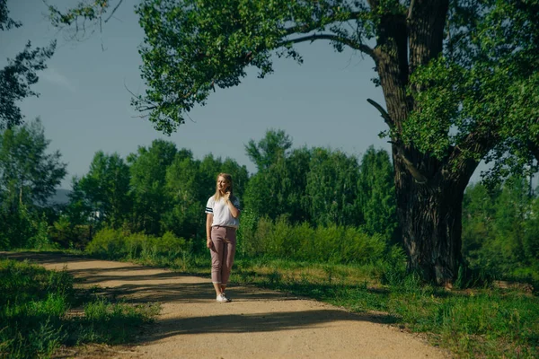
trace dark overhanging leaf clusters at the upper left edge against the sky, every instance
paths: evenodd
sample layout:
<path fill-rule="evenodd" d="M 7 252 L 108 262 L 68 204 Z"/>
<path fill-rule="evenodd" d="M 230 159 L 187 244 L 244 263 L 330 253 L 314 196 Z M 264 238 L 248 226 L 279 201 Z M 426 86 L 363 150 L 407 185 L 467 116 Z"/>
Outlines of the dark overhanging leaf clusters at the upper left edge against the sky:
<path fill-rule="evenodd" d="M 9 17 L 7 0 L 0 0 L 0 31 L 21 27 Z M 30 96 L 38 96 L 31 90 L 31 85 L 38 82 L 37 72 L 47 68 L 45 61 L 52 57 L 56 41 L 46 48 L 31 48 L 28 41 L 21 53 L 14 59 L 8 59 L 8 65 L 0 69 L 0 129 L 22 124 L 21 109 L 16 105 Z"/>

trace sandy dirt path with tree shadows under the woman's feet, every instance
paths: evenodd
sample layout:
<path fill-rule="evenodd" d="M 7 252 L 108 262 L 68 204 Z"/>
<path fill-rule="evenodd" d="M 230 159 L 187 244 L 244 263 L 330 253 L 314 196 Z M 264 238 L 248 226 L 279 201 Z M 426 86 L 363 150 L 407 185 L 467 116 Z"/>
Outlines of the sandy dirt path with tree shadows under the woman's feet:
<path fill-rule="evenodd" d="M 444 358 L 420 337 L 322 302 L 231 286 L 217 303 L 207 278 L 129 263 L 46 253 L 0 253 L 67 270 L 128 302 L 160 302 L 155 324 L 117 358 Z M 87 356 L 84 356 L 87 357 Z M 93 355 L 93 357 L 96 357 Z M 99 357 L 99 355 L 97 355 Z"/>

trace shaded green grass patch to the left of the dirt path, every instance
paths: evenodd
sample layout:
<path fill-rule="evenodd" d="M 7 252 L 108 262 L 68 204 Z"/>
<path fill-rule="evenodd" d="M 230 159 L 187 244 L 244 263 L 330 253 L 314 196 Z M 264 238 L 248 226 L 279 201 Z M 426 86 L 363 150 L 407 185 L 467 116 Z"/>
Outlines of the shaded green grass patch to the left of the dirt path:
<path fill-rule="evenodd" d="M 0 357 L 48 358 L 60 346 L 122 344 L 158 313 L 75 289 L 66 270 L 0 259 Z"/>

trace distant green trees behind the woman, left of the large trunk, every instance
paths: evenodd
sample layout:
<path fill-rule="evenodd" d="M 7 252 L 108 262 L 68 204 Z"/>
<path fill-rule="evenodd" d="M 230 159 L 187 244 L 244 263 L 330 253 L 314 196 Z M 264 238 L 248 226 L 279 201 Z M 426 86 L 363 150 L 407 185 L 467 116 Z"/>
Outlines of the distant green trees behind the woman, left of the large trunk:
<path fill-rule="evenodd" d="M 39 144 L 34 140 L 43 138 L 39 120 L 1 134 L 3 213 L 16 216 L 22 208 L 39 213 L 64 178 L 66 165 L 59 161 L 59 153 L 44 156 L 47 141 L 25 147 Z M 234 159 L 211 153 L 195 159 L 189 149 L 178 149 L 164 140 L 140 146 L 125 159 L 118 153 L 98 151 L 88 172 L 73 178 L 69 203 L 58 208 L 53 232 L 64 246 L 70 242 L 84 245 L 79 237 L 89 240 L 103 227 L 203 238 L 204 206 L 215 193 L 216 175 L 227 172 L 233 176 L 234 193 L 241 198 L 243 209 L 257 218 L 286 216 L 290 223 L 351 225 L 396 240 L 388 153 L 370 147 L 359 161 L 354 155 L 328 148 L 291 147 L 290 137 L 282 130 L 269 130 L 258 142 L 251 140 L 245 149 L 258 169 L 251 176 Z M 29 158 L 43 163 L 25 162 Z M 40 167 L 49 169 L 48 176 L 34 172 Z M 18 170 L 10 171 L 12 168 Z M 17 197 L 18 193 L 24 196 Z M 84 235 L 76 234 L 83 228 Z M 11 246 L 17 244 L 23 244 L 22 240 Z"/>

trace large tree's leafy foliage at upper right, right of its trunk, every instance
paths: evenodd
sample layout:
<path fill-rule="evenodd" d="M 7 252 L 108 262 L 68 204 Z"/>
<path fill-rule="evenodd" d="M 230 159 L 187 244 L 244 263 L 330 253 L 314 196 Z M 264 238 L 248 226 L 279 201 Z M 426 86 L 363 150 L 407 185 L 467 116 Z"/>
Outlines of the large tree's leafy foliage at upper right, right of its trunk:
<path fill-rule="evenodd" d="M 451 8 L 443 56 L 411 75 L 420 106 L 404 124 L 404 141 L 440 160 L 458 147 L 464 158 L 493 162 L 492 182 L 535 171 L 526 166 L 539 148 L 538 10 L 536 0 Z"/>

